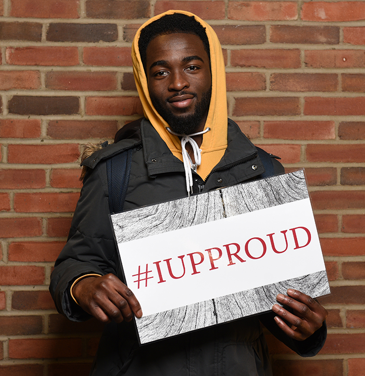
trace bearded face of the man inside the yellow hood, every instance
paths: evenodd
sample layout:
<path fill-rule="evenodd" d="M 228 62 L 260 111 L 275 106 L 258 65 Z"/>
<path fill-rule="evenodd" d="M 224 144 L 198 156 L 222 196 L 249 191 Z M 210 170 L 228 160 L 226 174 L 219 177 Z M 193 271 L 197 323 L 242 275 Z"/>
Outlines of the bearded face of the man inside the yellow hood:
<path fill-rule="evenodd" d="M 195 34 L 159 35 L 147 47 L 148 88 L 157 112 L 181 134 L 203 130 L 211 95 L 209 57 Z"/>

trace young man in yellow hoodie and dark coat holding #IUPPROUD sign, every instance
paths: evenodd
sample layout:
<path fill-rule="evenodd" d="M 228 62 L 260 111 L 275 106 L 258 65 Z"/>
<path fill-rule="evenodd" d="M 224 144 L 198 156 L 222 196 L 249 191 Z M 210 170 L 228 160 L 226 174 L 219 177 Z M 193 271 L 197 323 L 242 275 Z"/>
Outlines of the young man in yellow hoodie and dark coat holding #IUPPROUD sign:
<path fill-rule="evenodd" d="M 275 314 L 138 346 L 130 321 L 143 307 L 122 282 L 105 161 L 132 150 L 124 210 L 260 178 L 264 167 L 255 146 L 227 121 L 224 61 L 208 24 L 183 11 L 156 16 L 137 32 L 132 58 L 145 118 L 83 161 L 84 186 L 50 286 L 58 311 L 70 320 L 94 316 L 107 323 L 92 375 L 271 375 L 259 319 L 300 355 L 315 355 L 327 313 L 295 290 L 278 295 L 288 309 L 274 305 Z"/>

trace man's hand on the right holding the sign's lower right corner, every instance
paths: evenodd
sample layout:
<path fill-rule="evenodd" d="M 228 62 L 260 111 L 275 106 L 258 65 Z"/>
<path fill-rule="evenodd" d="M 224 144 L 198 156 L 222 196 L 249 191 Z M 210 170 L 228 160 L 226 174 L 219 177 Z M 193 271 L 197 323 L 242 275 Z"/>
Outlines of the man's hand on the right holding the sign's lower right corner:
<path fill-rule="evenodd" d="M 274 304 L 272 310 L 278 315 L 275 321 L 289 337 L 304 341 L 322 326 L 328 312 L 313 298 L 300 291 L 288 289 L 287 294 L 288 296 L 278 294 L 276 300 L 291 308 L 293 313 Z"/>

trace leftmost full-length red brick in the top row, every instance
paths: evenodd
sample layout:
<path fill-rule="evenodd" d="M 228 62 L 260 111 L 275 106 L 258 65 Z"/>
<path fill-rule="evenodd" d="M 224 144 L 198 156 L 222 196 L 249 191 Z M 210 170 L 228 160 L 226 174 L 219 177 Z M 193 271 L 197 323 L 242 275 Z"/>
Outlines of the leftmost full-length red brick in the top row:
<path fill-rule="evenodd" d="M 78 18 L 79 0 L 11 0 L 10 15 L 35 18 Z"/>

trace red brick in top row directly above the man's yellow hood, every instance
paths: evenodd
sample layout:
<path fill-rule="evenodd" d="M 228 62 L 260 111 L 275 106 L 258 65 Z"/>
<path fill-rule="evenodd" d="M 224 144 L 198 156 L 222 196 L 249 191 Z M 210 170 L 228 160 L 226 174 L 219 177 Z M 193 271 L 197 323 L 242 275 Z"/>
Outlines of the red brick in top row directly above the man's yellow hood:
<path fill-rule="evenodd" d="M 170 9 L 187 10 L 204 20 L 225 18 L 224 1 L 156 1 L 155 15 Z"/>

